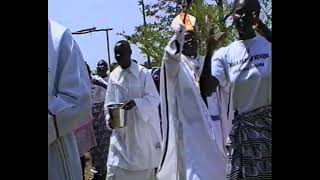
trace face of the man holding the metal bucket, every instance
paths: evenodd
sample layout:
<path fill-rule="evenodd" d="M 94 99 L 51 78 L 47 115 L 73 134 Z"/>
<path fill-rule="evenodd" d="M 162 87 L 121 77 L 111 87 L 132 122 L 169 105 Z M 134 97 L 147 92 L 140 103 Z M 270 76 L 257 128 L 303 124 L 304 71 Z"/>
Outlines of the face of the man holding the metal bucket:
<path fill-rule="evenodd" d="M 114 49 L 115 59 L 122 69 L 127 69 L 131 65 L 131 48 L 128 44 L 116 44 Z"/>

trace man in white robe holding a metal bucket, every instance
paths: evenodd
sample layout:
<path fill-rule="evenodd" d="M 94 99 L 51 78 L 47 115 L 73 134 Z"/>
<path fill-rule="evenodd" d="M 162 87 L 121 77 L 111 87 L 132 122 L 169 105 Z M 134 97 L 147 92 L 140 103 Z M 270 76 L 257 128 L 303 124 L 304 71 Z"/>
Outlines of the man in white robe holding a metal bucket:
<path fill-rule="evenodd" d="M 114 52 L 119 66 L 110 74 L 106 104 L 125 103 L 127 125 L 110 138 L 108 180 L 153 180 L 161 155 L 159 93 L 150 71 L 131 60 L 127 41 Z"/>

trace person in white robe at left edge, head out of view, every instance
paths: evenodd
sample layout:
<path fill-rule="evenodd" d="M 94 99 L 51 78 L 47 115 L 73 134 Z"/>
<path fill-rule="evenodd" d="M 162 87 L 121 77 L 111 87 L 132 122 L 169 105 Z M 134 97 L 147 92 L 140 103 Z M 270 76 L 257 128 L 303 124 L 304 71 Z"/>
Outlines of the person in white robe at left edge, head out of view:
<path fill-rule="evenodd" d="M 73 130 L 91 118 L 90 80 L 77 43 L 48 21 L 48 180 L 80 180 Z"/>

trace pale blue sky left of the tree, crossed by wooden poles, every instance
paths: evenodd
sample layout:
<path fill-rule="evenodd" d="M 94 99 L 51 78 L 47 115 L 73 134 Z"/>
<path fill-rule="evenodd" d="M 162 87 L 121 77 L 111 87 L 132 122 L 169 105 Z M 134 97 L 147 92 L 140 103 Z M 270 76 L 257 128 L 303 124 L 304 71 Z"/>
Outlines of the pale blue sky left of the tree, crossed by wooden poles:
<path fill-rule="evenodd" d="M 156 0 L 144 0 L 145 4 Z M 113 28 L 109 32 L 110 57 L 114 62 L 114 44 L 122 40 L 117 32 L 134 32 L 134 27 L 143 24 L 142 14 L 137 0 L 48 0 L 48 17 L 68 27 L 71 31 L 97 27 Z M 148 19 L 147 19 L 148 21 Z M 96 32 L 86 35 L 75 35 L 85 60 L 92 69 L 100 59 L 107 60 L 106 35 Z M 132 58 L 139 63 L 147 60 L 140 50 L 131 45 Z M 107 61 L 108 62 L 108 61 Z"/>

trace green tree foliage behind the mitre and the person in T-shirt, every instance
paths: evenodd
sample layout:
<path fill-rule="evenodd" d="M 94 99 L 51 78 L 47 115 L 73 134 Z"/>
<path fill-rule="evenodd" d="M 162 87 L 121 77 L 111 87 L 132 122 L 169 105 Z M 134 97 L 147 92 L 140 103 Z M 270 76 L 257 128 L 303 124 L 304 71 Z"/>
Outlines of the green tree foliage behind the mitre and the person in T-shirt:
<path fill-rule="evenodd" d="M 189 7 L 188 13 L 197 18 L 200 55 L 205 54 L 206 39 L 211 28 L 214 29 L 217 37 L 222 33 L 226 34 L 220 46 L 225 46 L 235 39 L 236 31 L 228 18 L 231 15 L 232 2 L 231 0 L 196 0 Z M 260 0 L 260 3 L 262 20 L 271 27 L 271 1 Z M 138 0 L 138 4 L 142 5 L 142 0 Z M 124 31 L 119 35 L 136 44 L 144 55 L 149 55 L 152 66 L 160 66 L 164 48 L 173 35 L 171 22 L 181 11 L 181 0 L 158 0 L 155 3 L 146 4 L 145 15 L 151 22 L 145 26 L 135 27 L 135 32 L 131 35 Z"/>

